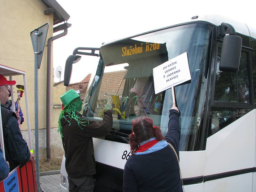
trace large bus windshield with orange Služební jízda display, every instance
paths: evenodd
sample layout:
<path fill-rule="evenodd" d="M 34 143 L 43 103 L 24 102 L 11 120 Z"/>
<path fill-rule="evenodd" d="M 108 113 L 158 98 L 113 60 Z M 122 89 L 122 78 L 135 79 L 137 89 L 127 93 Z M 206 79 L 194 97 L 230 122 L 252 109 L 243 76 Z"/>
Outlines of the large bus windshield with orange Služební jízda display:
<path fill-rule="evenodd" d="M 187 52 L 191 81 L 175 87 L 180 110 L 180 151 L 199 150 L 211 34 L 211 25 L 193 23 L 102 46 L 96 75 L 85 95 L 83 115 L 102 121 L 107 99 L 112 98 L 115 133 L 102 139 L 125 142 L 124 138 L 131 134 L 132 120 L 143 116 L 152 118 L 165 135 L 173 103 L 172 90 L 155 94 L 153 68 Z"/>

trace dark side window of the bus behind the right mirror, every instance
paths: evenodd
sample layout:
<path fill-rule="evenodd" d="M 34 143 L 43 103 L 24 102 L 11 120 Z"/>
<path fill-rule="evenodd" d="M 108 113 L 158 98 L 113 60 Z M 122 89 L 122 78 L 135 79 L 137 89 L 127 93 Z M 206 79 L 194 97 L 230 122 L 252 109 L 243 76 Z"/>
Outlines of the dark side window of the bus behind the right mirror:
<path fill-rule="evenodd" d="M 239 70 L 236 73 L 219 70 L 220 53 L 219 46 L 208 137 L 252 110 L 249 53 L 241 52 Z"/>

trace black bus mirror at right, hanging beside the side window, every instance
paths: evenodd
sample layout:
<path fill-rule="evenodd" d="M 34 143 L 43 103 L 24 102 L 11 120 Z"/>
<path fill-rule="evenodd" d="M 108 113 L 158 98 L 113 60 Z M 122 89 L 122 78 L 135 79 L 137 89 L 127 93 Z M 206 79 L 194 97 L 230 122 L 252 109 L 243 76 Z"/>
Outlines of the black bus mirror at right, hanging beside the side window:
<path fill-rule="evenodd" d="M 239 69 L 242 38 L 237 35 L 223 37 L 220 55 L 220 71 L 236 72 Z"/>

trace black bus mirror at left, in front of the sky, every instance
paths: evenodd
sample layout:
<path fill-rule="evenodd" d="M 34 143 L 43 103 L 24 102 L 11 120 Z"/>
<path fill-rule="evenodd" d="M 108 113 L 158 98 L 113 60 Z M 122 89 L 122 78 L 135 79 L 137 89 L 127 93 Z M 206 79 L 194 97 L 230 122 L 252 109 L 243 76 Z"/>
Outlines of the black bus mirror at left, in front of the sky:
<path fill-rule="evenodd" d="M 64 85 L 69 86 L 71 74 L 72 74 L 72 65 L 73 63 L 78 62 L 81 59 L 79 55 L 69 55 L 66 60 L 65 71 L 64 71 Z"/>

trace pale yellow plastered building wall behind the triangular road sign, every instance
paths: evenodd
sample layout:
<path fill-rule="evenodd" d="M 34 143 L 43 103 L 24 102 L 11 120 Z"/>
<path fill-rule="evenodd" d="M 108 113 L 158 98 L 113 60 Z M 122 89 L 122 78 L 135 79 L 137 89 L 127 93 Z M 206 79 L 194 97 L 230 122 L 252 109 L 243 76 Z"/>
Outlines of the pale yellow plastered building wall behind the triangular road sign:
<path fill-rule="evenodd" d="M 1 0 L 0 6 L 0 64 L 26 72 L 27 77 L 27 92 L 28 92 L 28 107 L 30 113 L 30 126 L 35 129 L 35 114 L 34 114 L 34 51 L 30 38 L 30 32 L 49 23 L 49 30 L 46 37 L 53 36 L 53 15 L 44 15 L 44 10 L 47 7 L 41 0 Z M 38 90 L 39 90 L 39 129 L 46 128 L 46 62 L 47 62 L 47 47 L 44 47 L 44 54 L 41 62 L 41 67 L 38 69 Z M 53 69 L 53 63 L 52 67 Z M 24 84 L 22 76 L 14 76 L 17 84 Z M 51 78 L 53 84 L 53 76 Z M 15 86 L 14 98 L 17 99 Z M 51 92 L 53 86 L 51 87 Z M 53 97 L 53 92 L 52 95 Z M 51 97 L 51 98 L 52 98 Z M 21 125 L 21 130 L 24 138 L 27 138 L 27 116 L 25 107 L 25 97 L 21 98 L 21 108 L 24 114 L 24 123 Z M 53 101 L 51 101 L 53 106 Z M 41 133 L 41 134 L 40 134 Z M 31 134 L 32 140 L 35 134 Z M 39 132 L 39 140 L 44 140 L 46 133 Z M 34 140 L 35 141 L 35 140 Z M 27 140 L 28 142 L 28 140 Z M 34 145 L 34 142 L 32 142 Z M 40 150 L 44 150 L 43 143 L 39 143 Z M 35 148 L 34 148 L 35 149 Z"/>

